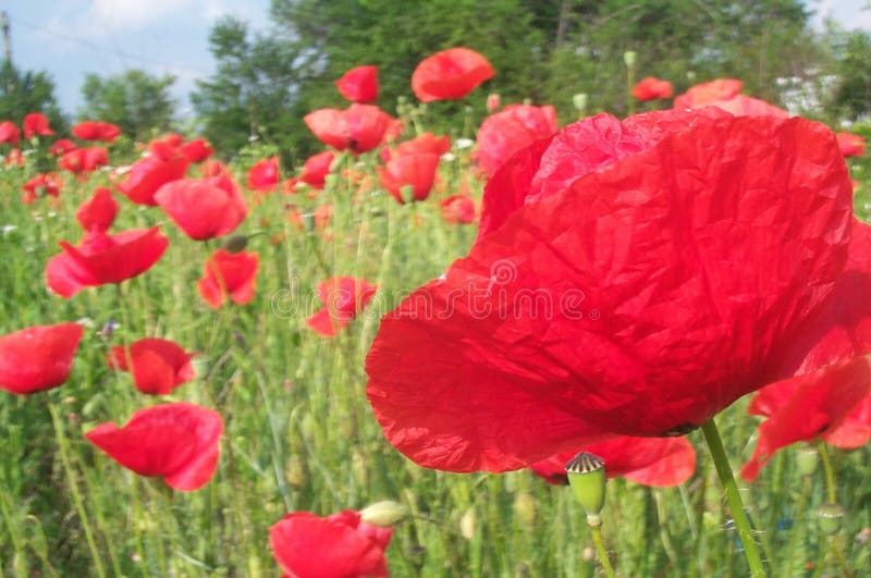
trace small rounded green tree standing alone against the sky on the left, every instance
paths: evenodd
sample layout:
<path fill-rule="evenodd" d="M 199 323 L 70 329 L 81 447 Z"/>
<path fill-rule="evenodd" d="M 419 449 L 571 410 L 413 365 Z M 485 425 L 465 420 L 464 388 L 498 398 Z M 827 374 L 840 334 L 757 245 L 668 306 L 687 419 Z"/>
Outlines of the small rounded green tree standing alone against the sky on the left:
<path fill-rule="evenodd" d="M 105 78 L 88 74 L 82 85 L 85 107 L 81 118 L 111 122 L 137 140 L 170 128 L 175 102 L 170 87 L 175 77 L 157 77 L 142 70 L 128 70 Z"/>

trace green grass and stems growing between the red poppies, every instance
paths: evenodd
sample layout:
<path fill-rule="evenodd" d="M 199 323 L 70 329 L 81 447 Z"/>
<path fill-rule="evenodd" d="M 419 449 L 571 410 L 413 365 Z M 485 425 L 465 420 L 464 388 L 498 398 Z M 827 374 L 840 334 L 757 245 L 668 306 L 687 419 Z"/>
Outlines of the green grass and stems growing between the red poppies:
<path fill-rule="evenodd" d="M 373 155 L 342 162 L 373 177 Z M 866 164 L 859 167 L 863 184 L 856 201 L 862 217 L 871 189 Z M 246 167 L 234 169 L 244 182 Z M 377 180 L 358 194 L 342 177 L 318 199 L 260 197 L 238 231 L 267 232 L 248 246 L 260 255 L 257 297 L 214 311 L 199 299 L 195 282 L 217 244 L 192 242 L 159 209 L 134 207 L 120 196 L 114 230 L 161 224 L 171 238 L 167 254 L 119 290 L 86 290 L 70 300 L 50 294 L 46 261 L 60 250 L 59 241 L 78 238 L 75 207 L 108 177 L 101 173 L 81 184 L 65 177 L 58 207 L 48 199 L 25 207 L 20 186 L 32 173 L 0 169 L 0 227 L 16 227 L 0 232 L 0 334 L 87 320 L 63 386 L 29 397 L 0 395 L 0 574 L 277 576 L 268 532 L 285 513 L 328 515 L 384 499 L 413 513 L 395 528 L 388 550 L 394 576 L 597 574 L 584 515 L 567 488 L 548 485 L 528 471 L 421 469 L 384 441 L 365 397 L 363 362 L 379 316 L 396 305 L 402 291 L 441 274 L 474 239 L 473 226 L 445 224 L 437 202 L 455 192 L 468 170 L 463 155 L 444 164 L 443 190 L 414 206 L 397 205 L 377 188 Z M 475 186 L 479 197 L 480 185 Z M 328 237 L 285 219 L 287 204 L 320 202 L 333 205 Z M 305 319 L 315 309 L 312 291 L 334 274 L 378 283 L 381 294 L 366 315 L 328 340 L 309 331 Z M 121 327 L 111 337 L 100 336 L 110 320 Z M 171 396 L 139 394 L 128 374 L 109 369 L 105 356 L 110 346 L 144 336 L 201 352 L 204 374 Z M 123 423 L 137 408 L 181 399 L 218 409 L 225 422 L 218 471 L 197 492 L 171 493 L 162 482 L 121 468 L 83 438 L 97 423 Z M 755 442 L 757 420 L 745 408 L 746 402 L 738 402 L 719 419 L 736 469 Z M 603 532 L 617 575 L 746 575 L 701 433 L 688 439 L 699 460 L 684 487 L 609 483 Z M 835 541 L 859 576 L 871 564 L 868 538 L 857 540 L 871 527 L 869 450 L 832 453 L 838 500 L 847 512 Z M 764 529 L 759 538 L 770 575 L 819 575 L 829 550 L 813 514 L 825 501 L 822 471 L 802 499 L 789 448 L 753 484 L 739 485 L 750 516 Z M 807 506 L 799 508 L 802 500 Z M 833 563 L 830 556 L 826 574 L 837 573 Z"/>

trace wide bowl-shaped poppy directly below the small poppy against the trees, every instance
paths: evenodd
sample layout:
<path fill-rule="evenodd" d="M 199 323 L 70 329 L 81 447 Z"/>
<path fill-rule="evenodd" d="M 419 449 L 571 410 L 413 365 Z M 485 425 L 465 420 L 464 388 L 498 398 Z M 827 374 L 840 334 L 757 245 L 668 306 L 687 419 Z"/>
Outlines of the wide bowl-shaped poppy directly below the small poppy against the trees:
<path fill-rule="evenodd" d="M 303 120 L 324 145 L 357 155 L 380 145 L 393 119 L 376 106 L 354 103 L 345 110 L 318 109 Z"/>

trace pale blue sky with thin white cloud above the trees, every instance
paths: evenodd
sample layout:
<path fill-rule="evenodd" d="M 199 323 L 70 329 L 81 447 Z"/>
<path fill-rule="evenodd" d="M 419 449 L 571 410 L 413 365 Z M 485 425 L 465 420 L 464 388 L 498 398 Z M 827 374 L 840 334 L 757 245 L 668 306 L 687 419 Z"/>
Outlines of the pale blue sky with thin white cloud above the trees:
<path fill-rule="evenodd" d="M 832 16 L 846 28 L 871 30 L 871 0 L 809 0 L 814 26 Z M 269 26 L 269 0 L 0 0 L 12 27 L 13 62 L 48 71 L 61 107 L 75 113 L 86 73 L 101 76 L 138 67 L 176 77 L 173 96 L 187 115 L 187 95 L 214 63 L 209 28 L 223 14 Z"/>

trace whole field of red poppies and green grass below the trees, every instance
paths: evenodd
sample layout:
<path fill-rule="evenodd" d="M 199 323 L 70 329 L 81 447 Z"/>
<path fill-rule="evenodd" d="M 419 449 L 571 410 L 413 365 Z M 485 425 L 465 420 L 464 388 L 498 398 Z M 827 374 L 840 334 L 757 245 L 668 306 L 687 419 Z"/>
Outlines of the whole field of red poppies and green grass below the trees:
<path fill-rule="evenodd" d="M 302 167 L 0 123 L 0 574 L 867 574 L 869 126 L 493 74 L 348 71 Z"/>

